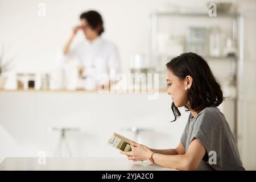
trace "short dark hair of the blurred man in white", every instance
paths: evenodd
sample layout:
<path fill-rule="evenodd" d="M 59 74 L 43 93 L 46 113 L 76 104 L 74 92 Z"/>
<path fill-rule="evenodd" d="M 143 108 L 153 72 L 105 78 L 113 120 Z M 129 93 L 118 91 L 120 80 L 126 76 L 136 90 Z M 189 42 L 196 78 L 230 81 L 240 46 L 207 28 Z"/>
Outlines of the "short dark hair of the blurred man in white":
<path fill-rule="evenodd" d="M 98 31 L 98 35 L 101 35 L 104 32 L 103 20 L 97 11 L 87 11 L 80 15 L 80 19 L 86 19 L 89 26 L 93 28 L 93 30 Z"/>

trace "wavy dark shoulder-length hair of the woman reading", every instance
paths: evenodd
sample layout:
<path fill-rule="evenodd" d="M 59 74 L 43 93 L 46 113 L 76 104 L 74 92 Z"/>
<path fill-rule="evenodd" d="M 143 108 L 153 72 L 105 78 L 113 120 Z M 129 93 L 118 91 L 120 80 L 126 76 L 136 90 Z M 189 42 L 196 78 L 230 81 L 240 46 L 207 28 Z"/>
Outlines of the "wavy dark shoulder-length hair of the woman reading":
<path fill-rule="evenodd" d="M 225 99 L 221 86 L 213 76 L 207 61 L 196 53 L 182 53 L 168 62 L 166 67 L 181 80 L 188 75 L 193 79 L 185 105 L 187 111 L 192 110 L 199 113 L 205 107 L 217 107 Z M 172 102 L 171 109 L 174 113 L 174 121 L 176 121 L 181 114 L 174 102 Z"/>

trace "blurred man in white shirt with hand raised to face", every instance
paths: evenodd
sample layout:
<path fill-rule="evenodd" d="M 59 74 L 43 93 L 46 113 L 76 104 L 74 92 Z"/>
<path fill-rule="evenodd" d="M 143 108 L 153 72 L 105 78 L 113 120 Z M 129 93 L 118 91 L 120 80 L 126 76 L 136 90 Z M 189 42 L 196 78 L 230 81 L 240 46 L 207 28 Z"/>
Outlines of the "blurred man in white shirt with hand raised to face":
<path fill-rule="evenodd" d="M 85 89 L 96 89 L 99 85 L 109 88 L 119 69 L 118 50 L 112 42 L 101 38 L 104 23 L 97 11 L 82 13 L 80 21 L 63 48 L 63 61 L 71 60 L 72 57 L 79 60 L 79 74 L 85 79 Z M 82 30 L 86 40 L 71 49 L 71 43 L 79 30 Z M 97 76 L 101 73 L 106 73 L 109 79 L 99 82 Z"/>

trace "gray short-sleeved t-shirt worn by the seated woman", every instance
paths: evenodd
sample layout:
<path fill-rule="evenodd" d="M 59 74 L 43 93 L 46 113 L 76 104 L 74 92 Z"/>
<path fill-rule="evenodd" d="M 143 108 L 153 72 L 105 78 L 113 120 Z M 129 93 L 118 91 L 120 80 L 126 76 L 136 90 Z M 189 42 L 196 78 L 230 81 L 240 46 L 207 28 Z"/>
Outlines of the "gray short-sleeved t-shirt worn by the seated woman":
<path fill-rule="evenodd" d="M 180 139 L 185 151 L 194 138 L 199 139 L 206 150 L 197 170 L 245 170 L 236 140 L 217 107 L 205 107 L 195 118 L 190 113 Z"/>

